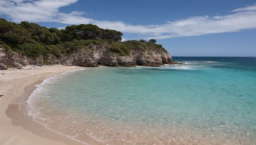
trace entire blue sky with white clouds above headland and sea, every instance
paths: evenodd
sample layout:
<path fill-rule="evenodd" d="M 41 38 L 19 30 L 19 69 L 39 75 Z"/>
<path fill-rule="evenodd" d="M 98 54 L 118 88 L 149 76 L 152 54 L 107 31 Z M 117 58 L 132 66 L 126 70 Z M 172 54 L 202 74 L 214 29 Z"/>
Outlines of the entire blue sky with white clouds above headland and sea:
<path fill-rule="evenodd" d="M 0 0 L 0 17 L 65 29 L 95 24 L 172 56 L 256 57 L 256 0 Z"/>

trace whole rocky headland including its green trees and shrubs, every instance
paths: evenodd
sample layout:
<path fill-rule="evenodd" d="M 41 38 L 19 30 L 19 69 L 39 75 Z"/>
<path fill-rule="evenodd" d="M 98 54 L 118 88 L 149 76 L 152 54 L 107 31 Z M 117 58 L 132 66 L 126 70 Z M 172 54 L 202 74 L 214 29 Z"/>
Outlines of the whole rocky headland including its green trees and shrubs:
<path fill-rule="evenodd" d="M 121 42 L 122 32 L 92 24 L 70 25 L 59 30 L 0 18 L 0 30 L 0 64 L 4 69 L 20 68 L 19 64 L 97 67 L 173 63 L 156 39 Z"/>

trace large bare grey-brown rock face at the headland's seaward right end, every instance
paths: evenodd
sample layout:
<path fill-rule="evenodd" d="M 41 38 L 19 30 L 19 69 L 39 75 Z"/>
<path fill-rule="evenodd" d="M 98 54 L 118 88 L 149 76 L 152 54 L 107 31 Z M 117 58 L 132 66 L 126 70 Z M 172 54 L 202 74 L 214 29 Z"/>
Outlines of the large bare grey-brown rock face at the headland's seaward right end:
<path fill-rule="evenodd" d="M 93 52 L 93 53 L 92 53 Z M 107 46 L 91 51 L 84 49 L 77 50 L 63 59 L 62 64 L 67 66 L 161 66 L 163 64 L 172 64 L 172 57 L 166 50 L 131 50 L 129 55 L 120 56 L 116 53 L 109 53 Z"/>

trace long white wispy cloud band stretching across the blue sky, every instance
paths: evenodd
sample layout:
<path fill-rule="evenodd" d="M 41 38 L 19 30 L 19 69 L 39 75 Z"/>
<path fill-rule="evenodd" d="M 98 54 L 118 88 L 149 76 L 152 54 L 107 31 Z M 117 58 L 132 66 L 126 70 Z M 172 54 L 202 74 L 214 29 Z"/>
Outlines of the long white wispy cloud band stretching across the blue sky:
<path fill-rule="evenodd" d="M 167 21 L 159 25 L 131 25 L 124 22 L 93 20 L 84 17 L 81 11 L 61 13 L 63 6 L 77 0 L 1 0 L 0 14 L 14 22 L 57 22 L 61 24 L 95 24 L 104 29 L 140 34 L 145 38 L 166 39 L 185 36 L 200 36 L 223 32 L 237 32 L 256 28 L 256 4 L 237 8 L 229 15 L 189 17 Z"/>

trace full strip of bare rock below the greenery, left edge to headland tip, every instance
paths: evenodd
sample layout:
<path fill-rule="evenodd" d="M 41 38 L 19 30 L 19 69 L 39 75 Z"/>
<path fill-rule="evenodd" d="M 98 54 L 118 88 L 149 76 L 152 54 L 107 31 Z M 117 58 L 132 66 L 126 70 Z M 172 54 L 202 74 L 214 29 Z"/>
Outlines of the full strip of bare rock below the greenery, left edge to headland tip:
<path fill-rule="evenodd" d="M 4 48 L 0 48 L 0 63 L 18 68 L 28 64 L 45 64 L 42 56 L 37 59 L 30 59 L 12 51 L 5 52 Z M 17 63 L 22 66 L 20 67 Z M 173 62 L 170 54 L 162 48 L 132 49 L 130 50 L 129 55 L 121 55 L 119 53 L 109 52 L 108 44 L 106 43 L 101 46 L 90 45 L 88 48 L 75 50 L 68 56 L 62 56 L 58 59 L 50 54 L 47 64 L 85 67 L 97 67 L 99 65 L 133 67 L 161 66 L 163 64 L 173 64 Z"/>

